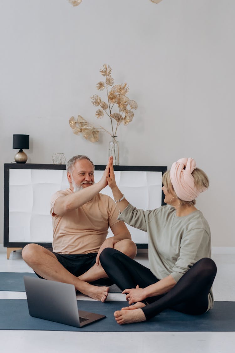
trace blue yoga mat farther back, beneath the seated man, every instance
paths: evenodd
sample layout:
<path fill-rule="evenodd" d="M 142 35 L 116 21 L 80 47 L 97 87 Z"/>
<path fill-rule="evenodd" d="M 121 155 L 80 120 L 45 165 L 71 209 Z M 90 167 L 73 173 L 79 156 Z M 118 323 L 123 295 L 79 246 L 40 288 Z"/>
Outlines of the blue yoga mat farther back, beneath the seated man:
<path fill-rule="evenodd" d="M 24 276 L 37 277 L 33 272 L 0 272 L 0 291 L 25 292 Z M 122 293 L 116 286 L 110 286 L 110 293 Z"/>

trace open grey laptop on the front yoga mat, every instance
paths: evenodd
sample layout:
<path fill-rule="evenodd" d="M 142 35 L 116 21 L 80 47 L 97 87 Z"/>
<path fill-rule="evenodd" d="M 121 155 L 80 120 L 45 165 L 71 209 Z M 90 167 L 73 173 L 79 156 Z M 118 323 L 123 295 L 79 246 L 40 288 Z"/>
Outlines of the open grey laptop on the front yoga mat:
<path fill-rule="evenodd" d="M 74 285 L 24 276 L 29 314 L 62 324 L 83 327 L 103 319 L 100 315 L 78 310 Z"/>

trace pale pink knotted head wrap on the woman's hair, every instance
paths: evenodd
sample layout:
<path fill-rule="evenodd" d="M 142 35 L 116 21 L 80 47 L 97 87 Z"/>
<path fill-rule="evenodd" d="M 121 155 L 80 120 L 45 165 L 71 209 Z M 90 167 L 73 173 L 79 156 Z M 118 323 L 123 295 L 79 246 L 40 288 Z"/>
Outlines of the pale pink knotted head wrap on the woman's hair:
<path fill-rule="evenodd" d="M 206 187 L 198 189 L 192 176 L 196 168 L 193 158 L 181 158 L 172 164 L 170 170 L 171 183 L 176 195 L 183 201 L 192 201 L 206 190 Z"/>

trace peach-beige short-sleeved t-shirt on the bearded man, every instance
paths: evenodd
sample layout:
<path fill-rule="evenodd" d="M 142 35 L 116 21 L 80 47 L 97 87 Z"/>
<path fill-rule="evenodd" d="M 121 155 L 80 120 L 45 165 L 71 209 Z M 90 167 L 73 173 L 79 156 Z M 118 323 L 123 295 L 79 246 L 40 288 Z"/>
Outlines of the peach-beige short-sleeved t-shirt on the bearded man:
<path fill-rule="evenodd" d="M 117 205 L 111 197 L 98 193 L 78 209 L 63 216 L 55 215 L 56 199 L 70 193 L 73 193 L 70 189 L 61 190 L 51 197 L 53 251 L 61 254 L 98 252 L 106 239 L 109 227 L 120 222 L 117 219 Z"/>

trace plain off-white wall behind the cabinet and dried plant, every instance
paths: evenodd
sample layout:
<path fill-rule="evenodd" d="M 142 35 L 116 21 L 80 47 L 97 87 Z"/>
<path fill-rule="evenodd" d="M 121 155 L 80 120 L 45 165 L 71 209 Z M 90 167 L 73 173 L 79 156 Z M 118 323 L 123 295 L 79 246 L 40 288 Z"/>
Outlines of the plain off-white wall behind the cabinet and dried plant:
<path fill-rule="evenodd" d="M 12 135 L 30 134 L 29 163 L 86 154 L 105 164 L 109 135 L 75 136 L 70 116 L 95 118 L 99 69 L 113 68 L 138 103 L 121 126 L 122 165 L 167 165 L 191 156 L 210 178 L 197 206 L 213 246 L 235 246 L 234 12 L 232 0 L 0 1 L 0 243 L 3 164 L 14 161 Z M 102 94 L 102 92 L 101 92 Z M 103 96 L 105 98 L 105 96 Z"/>

